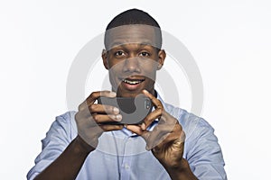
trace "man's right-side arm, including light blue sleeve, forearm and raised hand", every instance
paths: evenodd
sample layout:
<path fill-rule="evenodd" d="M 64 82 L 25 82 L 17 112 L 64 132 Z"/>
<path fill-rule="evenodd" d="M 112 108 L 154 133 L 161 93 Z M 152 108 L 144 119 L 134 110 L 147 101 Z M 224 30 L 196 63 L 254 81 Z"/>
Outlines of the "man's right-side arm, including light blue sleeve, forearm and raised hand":
<path fill-rule="evenodd" d="M 189 130 L 188 137 L 185 138 L 182 126 L 164 111 L 162 103 L 152 94 L 145 95 L 153 100 L 155 111 L 145 118 L 143 125 L 127 126 L 127 129 L 145 139 L 146 148 L 152 149 L 154 157 L 164 166 L 171 178 L 227 179 L 220 145 L 210 124 L 191 113 L 186 113 L 182 117 L 182 124 Z M 159 119 L 158 125 L 153 131 L 146 130 L 154 119 Z M 187 149 L 185 155 L 184 140 Z"/>

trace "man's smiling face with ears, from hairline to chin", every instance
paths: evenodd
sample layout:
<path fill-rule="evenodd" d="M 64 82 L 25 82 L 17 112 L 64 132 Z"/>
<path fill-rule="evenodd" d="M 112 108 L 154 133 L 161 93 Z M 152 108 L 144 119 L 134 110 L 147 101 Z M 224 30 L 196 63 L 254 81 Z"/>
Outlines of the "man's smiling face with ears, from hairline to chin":
<path fill-rule="evenodd" d="M 155 48 L 154 27 L 121 26 L 109 31 L 107 38 L 107 52 L 102 58 L 117 96 L 135 97 L 143 89 L 154 94 L 156 70 L 165 58 L 164 50 Z"/>

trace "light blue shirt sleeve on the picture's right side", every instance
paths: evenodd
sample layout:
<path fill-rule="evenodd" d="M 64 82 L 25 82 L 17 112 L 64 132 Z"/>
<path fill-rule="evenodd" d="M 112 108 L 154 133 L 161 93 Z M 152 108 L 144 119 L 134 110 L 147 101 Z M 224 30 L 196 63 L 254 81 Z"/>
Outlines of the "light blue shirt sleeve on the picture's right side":
<path fill-rule="evenodd" d="M 202 180 L 227 179 L 225 163 L 214 129 L 202 118 L 197 117 L 191 121 L 197 123 L 184 146 L 187 146 L 185 157 L 192 172 Z"/>

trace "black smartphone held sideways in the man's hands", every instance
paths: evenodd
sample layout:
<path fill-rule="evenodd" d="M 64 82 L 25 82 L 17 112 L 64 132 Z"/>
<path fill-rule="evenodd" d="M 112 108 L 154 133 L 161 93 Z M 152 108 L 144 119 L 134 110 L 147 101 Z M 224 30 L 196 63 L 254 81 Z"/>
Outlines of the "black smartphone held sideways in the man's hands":
<path fill-rule="evenodd" d="M 115 106 L 122 115 L 122 121 L 108 121 L 104 124 L 140 124 L 152 111 L 151 99 L 145 95 L 134 97 L 99 97 L 98 103 Z"/>

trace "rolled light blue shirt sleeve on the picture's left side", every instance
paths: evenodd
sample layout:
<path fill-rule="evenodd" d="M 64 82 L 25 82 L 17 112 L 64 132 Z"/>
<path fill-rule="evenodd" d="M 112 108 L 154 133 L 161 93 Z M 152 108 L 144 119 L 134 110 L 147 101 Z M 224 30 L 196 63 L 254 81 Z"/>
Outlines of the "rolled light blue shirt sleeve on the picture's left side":
<path fill-rule="evenodd" d="M 42 139 L 42 152 L 35 158 L 35 165 L 27 174 L 28 180 L 32 180 L 40 174 L 68 147 L 71 141 L 70 129 L 69 112 L 56 117 L 50 130 L 46 133 L 46 137 Z"/>

